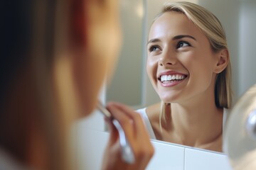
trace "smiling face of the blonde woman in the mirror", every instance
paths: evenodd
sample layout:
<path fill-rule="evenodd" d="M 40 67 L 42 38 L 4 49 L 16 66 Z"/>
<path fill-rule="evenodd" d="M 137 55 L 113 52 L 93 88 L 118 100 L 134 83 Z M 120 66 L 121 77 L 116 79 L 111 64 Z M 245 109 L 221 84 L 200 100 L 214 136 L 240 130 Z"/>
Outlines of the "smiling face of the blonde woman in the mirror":
<path fill-rule="evenodd" d="M 147 73 L 162 101 L 181 103 L 214 96 L 218 54 L 184 14 L 169 11 L 154 21 L 147 54 Z"/>

